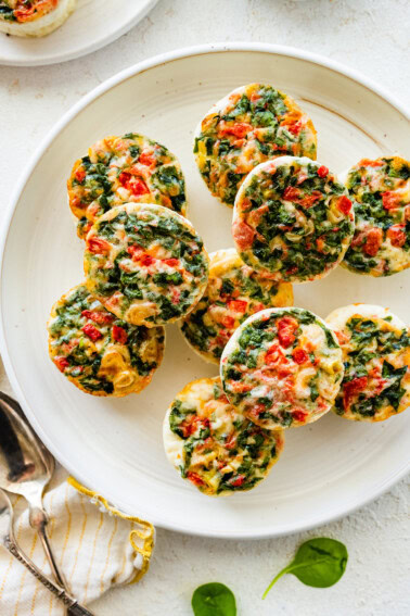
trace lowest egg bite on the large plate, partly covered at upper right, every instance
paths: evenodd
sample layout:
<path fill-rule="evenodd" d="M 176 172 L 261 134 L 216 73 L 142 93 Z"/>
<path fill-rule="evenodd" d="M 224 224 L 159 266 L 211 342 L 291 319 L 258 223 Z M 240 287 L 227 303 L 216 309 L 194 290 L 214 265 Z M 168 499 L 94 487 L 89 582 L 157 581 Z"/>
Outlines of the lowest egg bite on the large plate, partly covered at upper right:
<path fill-rule="evenodd" d="M 283 430 L 264 430 L 229 402 L 219 377 L 187 385 L 163 427 L 169 462 L 208 496 L 251 490 L 282 452 Z"/>

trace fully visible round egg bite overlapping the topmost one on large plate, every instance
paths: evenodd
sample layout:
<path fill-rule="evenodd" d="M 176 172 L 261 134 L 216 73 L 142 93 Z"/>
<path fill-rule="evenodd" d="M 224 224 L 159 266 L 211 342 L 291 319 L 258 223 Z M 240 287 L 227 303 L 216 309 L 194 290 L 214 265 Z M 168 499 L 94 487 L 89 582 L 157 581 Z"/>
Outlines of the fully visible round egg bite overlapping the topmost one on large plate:
<path fill-rule="evenodd" d="M 232 235 L 243 261 L 272 280 L 306 282 L 341 263 L 355 230 L 346 188 L 328 167 L 282 156 L 242 184 Z"/>

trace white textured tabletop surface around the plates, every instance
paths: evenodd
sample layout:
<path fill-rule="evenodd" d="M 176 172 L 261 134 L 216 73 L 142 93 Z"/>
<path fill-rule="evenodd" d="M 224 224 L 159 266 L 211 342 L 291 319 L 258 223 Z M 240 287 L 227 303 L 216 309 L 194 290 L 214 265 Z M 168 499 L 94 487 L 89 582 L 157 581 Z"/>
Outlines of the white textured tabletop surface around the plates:
<path fill-rule="evenodd" d="M 54 122 L 104 79 L 141 60 L 214 41 L 287 45 L 353 66 L 409 103 L 409 29 L 408 0 L 159 0 L 129 34 L 91 55 L 54 66 L 0 66 L 0 208 Z M 0 387 L 10 392 L 0 369 Z M 239 616 L 408 615 L 409 486 L 401 481 L 354 515 L 286 538 L 222 541 L 158 529 L 145 578 L 107 593 L 93 609 L 99 616 L 191 616 L 193 590 L 220 581 L 235 593 Z M 270 578 L 313 536 L 346 543 L 349 563 L 341 582 L 311 589 L 286 576 L 260 601 Z"/>

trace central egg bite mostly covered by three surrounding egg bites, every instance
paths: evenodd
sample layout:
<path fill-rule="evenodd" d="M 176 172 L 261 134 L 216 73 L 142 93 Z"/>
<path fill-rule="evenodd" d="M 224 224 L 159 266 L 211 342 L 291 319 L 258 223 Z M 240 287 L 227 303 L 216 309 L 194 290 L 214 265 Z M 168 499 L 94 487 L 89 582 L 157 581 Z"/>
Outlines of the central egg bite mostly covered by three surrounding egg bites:
<path fill-rule="evenodd" d="M 209 254 L 209 279 L 196 307 L 181 323 L 189 345 L 219 365 L 233 331 L 252 314 L 293 304 L 292 285 L 264 278 L 245 265 L 234 248 Z"/>

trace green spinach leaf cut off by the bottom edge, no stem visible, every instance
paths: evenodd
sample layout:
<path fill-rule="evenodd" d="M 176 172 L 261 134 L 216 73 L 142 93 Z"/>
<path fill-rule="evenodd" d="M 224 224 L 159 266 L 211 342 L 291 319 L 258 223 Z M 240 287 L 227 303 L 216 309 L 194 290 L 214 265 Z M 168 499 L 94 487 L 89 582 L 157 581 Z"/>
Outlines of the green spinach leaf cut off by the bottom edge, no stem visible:
<path fill-rule="evenodd" d="M 200 586 L 192 595 L 192 608 L 195 616 L 236 616 L 233 592 L 219 582 Z"/>

